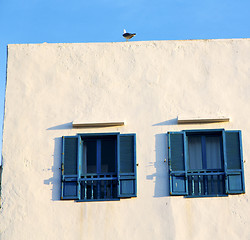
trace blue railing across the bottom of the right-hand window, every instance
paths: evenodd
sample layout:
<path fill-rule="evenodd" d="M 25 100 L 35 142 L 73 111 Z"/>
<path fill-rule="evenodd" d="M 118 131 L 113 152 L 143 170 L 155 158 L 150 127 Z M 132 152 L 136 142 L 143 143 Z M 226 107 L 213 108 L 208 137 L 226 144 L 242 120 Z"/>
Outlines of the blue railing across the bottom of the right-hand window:
<path fill-rule="evenodd" d="M 221 170 L 188 171 L 189 196 L 225 195 L 225 173 Z"/>

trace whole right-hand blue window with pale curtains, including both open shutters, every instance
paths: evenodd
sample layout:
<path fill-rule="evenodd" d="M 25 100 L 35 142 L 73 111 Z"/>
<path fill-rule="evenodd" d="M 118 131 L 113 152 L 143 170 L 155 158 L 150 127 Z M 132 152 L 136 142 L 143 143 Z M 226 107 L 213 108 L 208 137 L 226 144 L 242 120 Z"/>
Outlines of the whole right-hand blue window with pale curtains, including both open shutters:
<path fill-rule="evenodd" d="M 168 132 L 170 195 L 226 196 L 245 192 L 241 131 Z"/>

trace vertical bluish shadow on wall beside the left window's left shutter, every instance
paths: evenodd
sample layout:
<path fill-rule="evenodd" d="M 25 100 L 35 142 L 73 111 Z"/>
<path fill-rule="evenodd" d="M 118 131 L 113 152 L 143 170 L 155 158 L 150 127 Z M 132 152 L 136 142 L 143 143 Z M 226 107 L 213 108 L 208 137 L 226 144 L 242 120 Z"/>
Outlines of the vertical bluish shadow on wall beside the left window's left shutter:
<path fill-rule="evenodd" d="M 62 148 L 62 138 L 58 137 L 54 139 L 55 149 L 53 155 L 53 166 L 51 169 L 53 172 L 53 177 L 44 180 L 44 184 L 52 186 L 52 201 L 60 200 L 61 193 L 61 148 Z"/>

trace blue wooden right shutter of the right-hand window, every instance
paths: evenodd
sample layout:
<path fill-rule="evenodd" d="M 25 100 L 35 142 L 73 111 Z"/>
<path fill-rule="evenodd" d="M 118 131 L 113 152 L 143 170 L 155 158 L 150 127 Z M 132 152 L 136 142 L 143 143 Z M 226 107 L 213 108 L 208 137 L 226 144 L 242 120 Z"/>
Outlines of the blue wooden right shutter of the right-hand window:
<path fill-rule="evenodd" d="M 241 131 L 224 131 L 225 187 L 228 194 L 245 192 Z"/>

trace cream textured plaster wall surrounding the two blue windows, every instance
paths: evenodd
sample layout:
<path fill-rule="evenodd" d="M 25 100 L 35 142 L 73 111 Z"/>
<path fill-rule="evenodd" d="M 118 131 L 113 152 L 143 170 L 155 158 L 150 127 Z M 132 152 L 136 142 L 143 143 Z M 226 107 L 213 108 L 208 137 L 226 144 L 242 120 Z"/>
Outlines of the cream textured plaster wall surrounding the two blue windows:
<path fill-rule="evenodd" d="M 249 39 L 9 45 L 0 239 L 250 239 L 249 56 Z M 169 196 L 166 132 L 201 128 L 242 130 L 246 194 Z M 137 134 L 138 197 L 60 201 L 61 136 L 117 131 Z"/>

